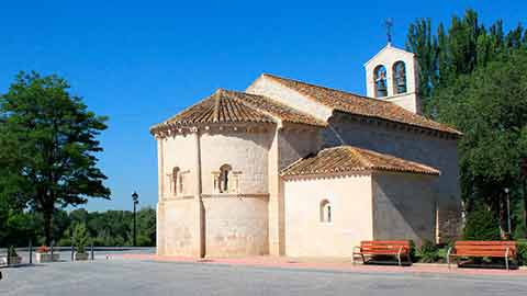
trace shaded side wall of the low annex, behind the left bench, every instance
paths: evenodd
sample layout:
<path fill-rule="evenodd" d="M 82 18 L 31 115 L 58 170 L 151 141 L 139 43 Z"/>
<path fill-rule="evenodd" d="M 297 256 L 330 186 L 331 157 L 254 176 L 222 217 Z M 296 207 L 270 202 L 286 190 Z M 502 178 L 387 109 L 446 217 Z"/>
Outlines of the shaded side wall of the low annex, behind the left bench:
<path fill-rule="evenodd" d="M 373 174 L 373 239 L 436 238 L 434 177 L 379 172 Z"/>

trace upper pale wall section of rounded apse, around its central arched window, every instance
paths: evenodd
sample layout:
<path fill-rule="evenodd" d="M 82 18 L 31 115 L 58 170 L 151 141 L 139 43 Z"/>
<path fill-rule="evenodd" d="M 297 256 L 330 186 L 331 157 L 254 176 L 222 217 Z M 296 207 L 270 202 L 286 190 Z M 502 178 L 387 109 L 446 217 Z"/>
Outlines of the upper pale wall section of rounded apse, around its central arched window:
<path fill-rule="evenodd" d="M 242 194 L 268 194 L 268 153 L 271 146 L 271 128 L 267 133 L 201 135 L 202 193 L 212 194 L 214 189 L 212 172 L 227 163 L 233 172 L 240 172 Z"/>

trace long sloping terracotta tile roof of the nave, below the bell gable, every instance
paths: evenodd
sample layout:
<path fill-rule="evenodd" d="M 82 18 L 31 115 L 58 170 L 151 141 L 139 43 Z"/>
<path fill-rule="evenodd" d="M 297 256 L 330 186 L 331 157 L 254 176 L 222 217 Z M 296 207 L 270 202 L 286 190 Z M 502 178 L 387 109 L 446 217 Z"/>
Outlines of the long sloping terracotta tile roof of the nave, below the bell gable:
<path fill-rule="evenodd" d="M 397 122 L 448 134 L 462 135 L 455 128 L 430 121 L 391 102 L 314 86 L 288 78 L 281 78 L 273 75 L 264 73 L 262 76 L 285 86 L 287 88 L 295 90 L 323 105 L 340 112 Z"/>

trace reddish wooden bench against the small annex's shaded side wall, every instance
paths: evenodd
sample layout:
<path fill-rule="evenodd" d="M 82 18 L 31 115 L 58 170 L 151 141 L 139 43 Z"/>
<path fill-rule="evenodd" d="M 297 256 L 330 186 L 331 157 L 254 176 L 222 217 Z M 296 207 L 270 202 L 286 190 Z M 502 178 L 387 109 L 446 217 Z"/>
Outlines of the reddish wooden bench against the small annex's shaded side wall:
<path fill-rule="evenodd" d="M 408 240 L 363 240 L 360 247 L 354 249 L 354 263 L 356 257 L 362 258 L 362 263 L 367 263 L 366 258 L 375 255 L 393 255 L 397 259 L 399 265 L 402 265 L 402 258 L 405 257 L 410 263 L 410 241 Z"/>

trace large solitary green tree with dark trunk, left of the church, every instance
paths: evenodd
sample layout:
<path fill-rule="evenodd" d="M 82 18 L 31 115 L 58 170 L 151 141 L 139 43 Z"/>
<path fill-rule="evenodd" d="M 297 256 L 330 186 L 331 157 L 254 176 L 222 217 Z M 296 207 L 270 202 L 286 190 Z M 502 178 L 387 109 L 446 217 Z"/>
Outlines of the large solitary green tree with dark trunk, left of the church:
<path fill-rule="evenodd" d="M 106 118 L 88 111 L 69 88 L 57 76 L 21 72 L 0 96 L 0 198 L 41 213 L 47 244 L 58 208 L 110 198 L 94 156 L 102 151 L 97 137 Z"/>

